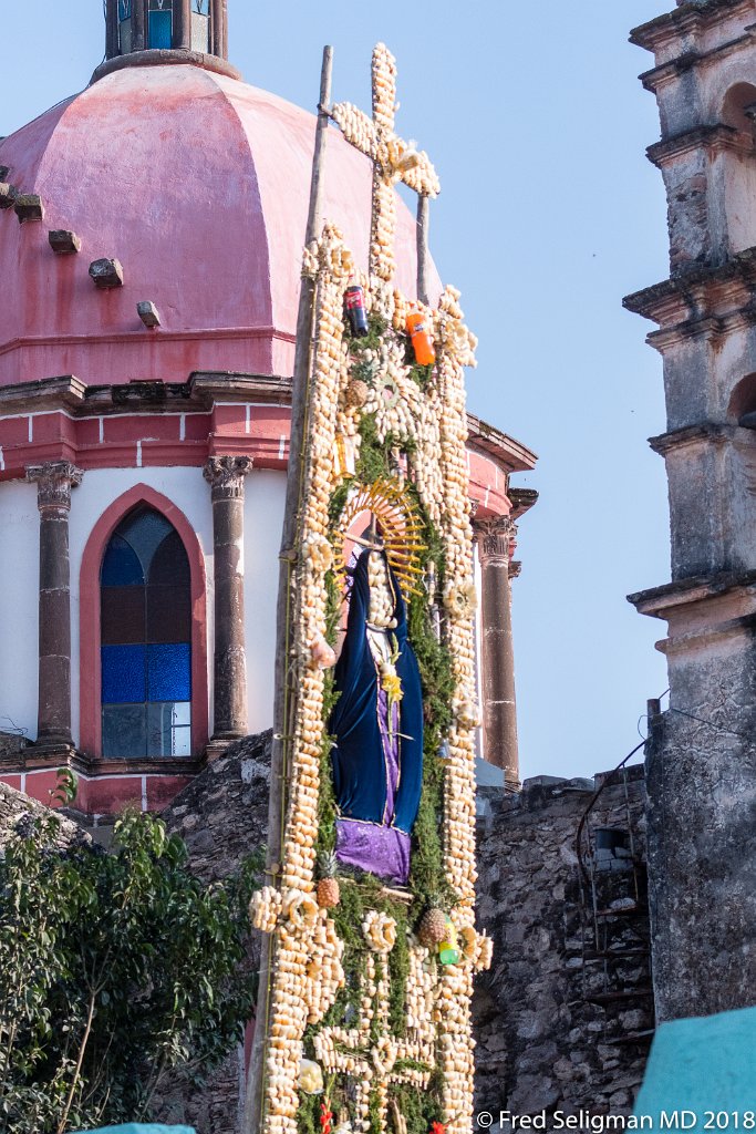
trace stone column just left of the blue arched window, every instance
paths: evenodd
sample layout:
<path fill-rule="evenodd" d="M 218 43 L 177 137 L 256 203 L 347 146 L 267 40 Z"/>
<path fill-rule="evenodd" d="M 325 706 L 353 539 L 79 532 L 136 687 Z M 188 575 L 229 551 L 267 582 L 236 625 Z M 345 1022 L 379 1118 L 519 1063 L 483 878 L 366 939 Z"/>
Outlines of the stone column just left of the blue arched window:
<path fill-rule="evenodd" d="M 71 618 L 68 514 L 83 472 L 67 460 L 31 465 L 40 509 L 40 691 L 36 743 L 70 746 Z"/>

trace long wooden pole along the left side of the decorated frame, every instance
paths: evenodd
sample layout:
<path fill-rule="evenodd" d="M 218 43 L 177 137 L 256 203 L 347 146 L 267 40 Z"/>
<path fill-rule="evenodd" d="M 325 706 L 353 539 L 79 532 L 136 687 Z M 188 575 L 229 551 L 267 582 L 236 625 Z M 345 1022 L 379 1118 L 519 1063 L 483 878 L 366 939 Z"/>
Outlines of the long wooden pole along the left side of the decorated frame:
<path fill-rule="evenodd" d="M 329 111 L 331 103 L 331 73 L 333 67 L 333 48 L 323 49 L 323 68 L 321 71 L 321 96 L 317 107 L 317 126 L 315 130 L 315 151 L 313 153 L 313 174 L 309 188 L 309 213 L 305 244 L 317 239 L 322 223 L 323 206 L 323 166 L 325 143 L 328 139 Z M 303 278 L 299 291 L 299 312 L 297 316 L 297 345 L 294 359 L 294 381 L 291 386 L 291 433 L 289 440 L 289 467 L 286 488 L 286 509 L 283 514 L 283 532 L 281 551 L 279 553 L 279 593 L 277 608 L 277 643 L 275 643 L 275 697 L 273 703 L 273 746 L 271 754 L 271 788 L 267 811 L 267 864 L 266 882 L 277 885 L 281 870 L 283 854 L 283 824 L 288 803 L 288 750 L 291 735 L 291 720 L 287 719 L 287 705 L 294 696 L 287 696 L 291 674 L 292 627 L 289 625 L 289 610 L 292 607 L 295 567 L 297 559 L 297 533 L 301 511 L 303 466 L 305 460 L 305 438 L 307 435 L 307 386 L 312 367 L 312 341 L 315 331 L 315 301 L 317 284 L 309 278 Z M 267 1051 L 267 1025 L 270 998 L 275 965 L 273 940 L 270 933 L 263 934 L 260 958 L 260 991 L 257 993 L 257 1012 L 255 1016 L 255 1038 L 252 1049 L 252 1064 L 247 1089 L 247 1100 L 244 1116 L 244 1134 L 260 1134 L 265 1107 L 265 1057 Z"/>

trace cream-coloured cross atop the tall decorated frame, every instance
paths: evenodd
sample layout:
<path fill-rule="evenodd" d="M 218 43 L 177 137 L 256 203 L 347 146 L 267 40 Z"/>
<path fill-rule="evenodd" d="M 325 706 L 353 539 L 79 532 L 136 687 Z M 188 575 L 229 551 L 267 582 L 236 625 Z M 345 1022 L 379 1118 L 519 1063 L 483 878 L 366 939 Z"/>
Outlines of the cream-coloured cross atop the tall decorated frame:
<path fill-rule="evenodd" d="M 394 181 L 402 181 L 421 197 L 435 197 L 441 184 L 425 151 L 394 134 L 397 111 L 397 61 L 379 43 L 373 51 L 373 117 L 350 102 L 337 102 L 331 117 L 350 145 L 373 162 L 369 273 L 391 282 L 396 269 L 397 209 Z"/>

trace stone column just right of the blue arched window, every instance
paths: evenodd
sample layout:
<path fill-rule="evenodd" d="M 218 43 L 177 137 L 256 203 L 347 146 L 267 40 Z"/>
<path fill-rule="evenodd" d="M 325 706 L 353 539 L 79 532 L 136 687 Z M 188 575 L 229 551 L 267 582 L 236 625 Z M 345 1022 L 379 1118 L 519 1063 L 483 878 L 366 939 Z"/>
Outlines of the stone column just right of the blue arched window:
<path fill-rule="evenodd" d="M 244 479 L 252 457 L 211 457 L 215 579 L 214 741 L 247 735 L 247 659 L 244 642 Z"/>

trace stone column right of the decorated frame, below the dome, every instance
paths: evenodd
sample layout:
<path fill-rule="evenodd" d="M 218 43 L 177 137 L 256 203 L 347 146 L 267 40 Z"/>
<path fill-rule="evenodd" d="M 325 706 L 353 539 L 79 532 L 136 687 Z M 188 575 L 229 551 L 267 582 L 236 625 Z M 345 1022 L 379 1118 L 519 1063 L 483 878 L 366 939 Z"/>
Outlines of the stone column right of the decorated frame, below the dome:
<path fill-rule="evenodd" d="M 481 561 L 483 752 L 490 763 L 503 768 L 507 792 L 520 788 L 510 589 L 510 544 L 516 531 L 508 516 L 475 523 Z"/>

